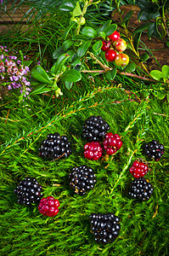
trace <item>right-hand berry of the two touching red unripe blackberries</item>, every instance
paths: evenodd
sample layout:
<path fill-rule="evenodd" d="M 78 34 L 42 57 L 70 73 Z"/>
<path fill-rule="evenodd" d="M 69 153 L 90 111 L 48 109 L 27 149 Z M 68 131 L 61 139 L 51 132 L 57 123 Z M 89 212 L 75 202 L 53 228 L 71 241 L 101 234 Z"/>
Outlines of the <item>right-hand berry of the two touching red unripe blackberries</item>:
<path fill-rule="evenodd" d="M 122 147 L 121 137 L 118 134 L 108 132 L 104 139 L 104 149 L 107 154 L 115 154 Z"/>

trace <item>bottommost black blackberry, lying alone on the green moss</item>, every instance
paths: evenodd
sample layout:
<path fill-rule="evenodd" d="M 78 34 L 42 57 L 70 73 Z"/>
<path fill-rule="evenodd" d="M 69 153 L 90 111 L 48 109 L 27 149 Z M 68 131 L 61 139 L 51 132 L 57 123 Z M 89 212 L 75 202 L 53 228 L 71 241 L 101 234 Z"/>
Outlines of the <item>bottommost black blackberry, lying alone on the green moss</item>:
<path fill-rule="evenodd" d="M 102 243 L 115 241 L 121 230 L 117 216 L 111 212 L 106 214 L 92 213 L 89 218 L 91 219 L 91 232 L 95 241 Z"/>

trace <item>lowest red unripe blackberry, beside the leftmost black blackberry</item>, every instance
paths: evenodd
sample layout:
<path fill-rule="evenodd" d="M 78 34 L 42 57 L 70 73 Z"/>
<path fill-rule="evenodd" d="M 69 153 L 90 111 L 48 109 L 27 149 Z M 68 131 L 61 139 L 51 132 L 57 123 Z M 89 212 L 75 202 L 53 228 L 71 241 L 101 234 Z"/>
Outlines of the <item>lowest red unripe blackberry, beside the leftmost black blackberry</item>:
<path fill-rule="evenodd" d="M 44 216 L 53 217 L 59 212 L 59 201 L 53 196 L 43 197 L 38 206 L 39 212 Z"/>

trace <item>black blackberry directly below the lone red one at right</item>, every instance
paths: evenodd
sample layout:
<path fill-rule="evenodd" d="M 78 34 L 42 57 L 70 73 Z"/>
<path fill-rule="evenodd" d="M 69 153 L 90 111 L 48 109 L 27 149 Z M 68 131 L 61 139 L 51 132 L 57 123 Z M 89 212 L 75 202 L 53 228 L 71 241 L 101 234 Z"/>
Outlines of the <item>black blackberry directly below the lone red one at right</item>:
<path fill-rule="evenodd" d="M 153 188 L 151 183 L 147 182 L 144 177 L 135 178 L 129 188 L 128 194 L 135 199 L 146 201 L 152 195 Z"/>

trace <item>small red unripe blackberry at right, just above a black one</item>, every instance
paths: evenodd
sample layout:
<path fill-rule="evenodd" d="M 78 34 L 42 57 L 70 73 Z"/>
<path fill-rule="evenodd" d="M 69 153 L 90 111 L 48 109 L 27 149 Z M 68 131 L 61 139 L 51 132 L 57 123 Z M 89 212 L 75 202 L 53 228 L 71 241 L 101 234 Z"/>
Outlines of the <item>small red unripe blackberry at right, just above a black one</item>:
<path fill-rule="evenodd" d="M 133 177 L 144 177 L 144 175 L 149 172 L 149 166 L 142 161 L 135 160 L 129 171 L 132 173 Z"/>

